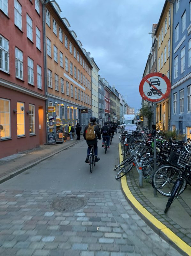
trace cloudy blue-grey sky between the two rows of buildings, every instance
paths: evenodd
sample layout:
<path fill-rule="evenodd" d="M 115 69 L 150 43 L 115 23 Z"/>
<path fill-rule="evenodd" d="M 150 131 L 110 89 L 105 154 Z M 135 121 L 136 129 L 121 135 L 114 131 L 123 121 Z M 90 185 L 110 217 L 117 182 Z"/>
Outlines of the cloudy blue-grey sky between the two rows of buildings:
<path fill-rule="evenodd" d="M 139 84 L 165 0 L 56 0 L 83 48 L 91 53 L 99 75 L 141 108 Z M 126 86 L 130 85 L 130 86 Z"/>

